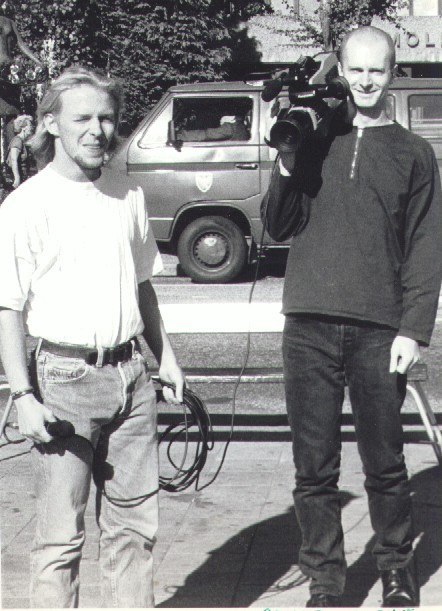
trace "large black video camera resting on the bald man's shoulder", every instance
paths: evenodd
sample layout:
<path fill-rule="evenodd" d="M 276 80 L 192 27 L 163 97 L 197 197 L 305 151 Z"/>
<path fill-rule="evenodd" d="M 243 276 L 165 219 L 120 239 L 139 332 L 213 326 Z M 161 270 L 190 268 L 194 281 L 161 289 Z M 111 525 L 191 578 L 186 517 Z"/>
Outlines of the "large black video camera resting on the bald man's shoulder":
<path fill-rule="evenodd" d="M 325 130 L 336 101 L 345 100 L 349 94 L 346 79 L 338 74 L 336 55 L 322 55 L 319 60 L 300 57 L 288 70 L 264 82 L 264 102 L 275 99 L 284 86 L 288 87 L 290 107 L 278 113 L 268 141 L 280 153 L 296 152 L 314 131 Z"/>

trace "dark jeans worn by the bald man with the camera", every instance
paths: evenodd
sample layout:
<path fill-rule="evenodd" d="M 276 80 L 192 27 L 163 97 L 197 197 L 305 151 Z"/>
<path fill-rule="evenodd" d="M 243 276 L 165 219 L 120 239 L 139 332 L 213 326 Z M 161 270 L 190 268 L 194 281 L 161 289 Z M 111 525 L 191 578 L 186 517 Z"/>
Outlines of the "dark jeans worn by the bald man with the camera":
<path fill-rule="evenodd" d="M 301 570 L 314 593 L 340 596 L 346 563 L 338 494 L 340 418 L 348 384 L 379 570 L 412 557 L 411 500 L 400 410 L 406 377 L 389 373 L 396 331 L 357 321 L 287 316 L 284 377 L 296 469 Z"/>

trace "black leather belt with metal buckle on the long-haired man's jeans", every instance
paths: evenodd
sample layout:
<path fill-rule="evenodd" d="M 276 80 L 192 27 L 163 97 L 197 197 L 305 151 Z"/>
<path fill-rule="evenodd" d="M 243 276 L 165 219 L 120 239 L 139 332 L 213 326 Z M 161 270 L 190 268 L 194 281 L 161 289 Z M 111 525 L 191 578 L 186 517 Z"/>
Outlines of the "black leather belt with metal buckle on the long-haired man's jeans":
<path fill-rule="evenodd" d="M 40 350 L 45 350 L 57 356 L 83 359 L 88 365 L 116 365 L 132 358 L 134 349 L 138 349 L 138 340 L 134 337 L 124 344 L 113 348 L 89 348 L 88 346 L 77 346 L 75 344 L 56 344 L 47 339 L 41 342 Z"/>

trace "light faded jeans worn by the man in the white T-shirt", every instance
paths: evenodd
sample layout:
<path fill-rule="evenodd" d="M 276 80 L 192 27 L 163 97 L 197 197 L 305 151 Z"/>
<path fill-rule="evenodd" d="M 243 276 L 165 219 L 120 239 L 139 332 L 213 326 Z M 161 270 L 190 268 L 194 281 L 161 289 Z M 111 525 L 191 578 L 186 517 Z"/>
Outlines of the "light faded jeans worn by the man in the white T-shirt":
<path fill-rule="evenodd" d="M 139 352 L 117 366 L 41 352 L 38 387 L 76 435 L 33 449 L 37 527 L 31 550 L 31 606 L 76 607 L 84 514 L 97 482 L 104 607 L 152 607 L 152 548 L 158 528 L 155 390 Z M 111 502 L 146 499 L 130 503 Z"/>

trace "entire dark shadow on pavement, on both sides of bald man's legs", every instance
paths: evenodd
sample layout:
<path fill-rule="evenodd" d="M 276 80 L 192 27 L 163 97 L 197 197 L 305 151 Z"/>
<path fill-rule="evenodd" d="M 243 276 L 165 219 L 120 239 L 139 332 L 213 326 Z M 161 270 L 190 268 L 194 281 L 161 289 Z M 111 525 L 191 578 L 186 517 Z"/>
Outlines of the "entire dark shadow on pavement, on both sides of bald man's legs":
<path fill-rule="evenodd" d="M 410 480 L 421 588 L 442 565 L 440 474 L 439 467 L 431 467 Z M 341 492 L 343 506 L 352 498 L 351 494 Z M 244 541 L 249 542 L 247 551 L 244 551 Z M 186 578 L 184 585 L 158 606 L 248 607 L 260 598 L 265 605 L 266 593 L 271 599 L 278 592 L 305 583 L 305 578 L 296 567 L 300 543 L 301 534 L 294 508 L 290 507 L 283 514 L 241 530 L 221 547 L 214 549 L 210 558 Z M 348 568 L 344 606 L 362 606 L 378 580 L 371 554 L 373 544 L 374 537 L 371 537 L 361 556 Z M 228 568 L 232 549 L 242 549 L 244 557 L 241 567 L 229 576 L 229 584 L 220 594 L 220 567 Z M 211 585 L 218 586 L 216 596 Z"/>

